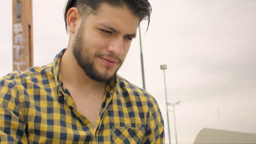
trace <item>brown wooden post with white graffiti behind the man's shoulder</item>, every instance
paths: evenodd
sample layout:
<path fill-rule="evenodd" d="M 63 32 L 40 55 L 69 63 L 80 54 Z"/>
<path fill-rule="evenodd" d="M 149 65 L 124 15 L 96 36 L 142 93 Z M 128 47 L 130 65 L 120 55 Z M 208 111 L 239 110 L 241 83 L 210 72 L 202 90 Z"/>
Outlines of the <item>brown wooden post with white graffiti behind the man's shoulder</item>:
<path fill-rule="evenodd" d="M 13 0 L 13 70 L 25 70 L 32 66 L 32 0 Z"/>

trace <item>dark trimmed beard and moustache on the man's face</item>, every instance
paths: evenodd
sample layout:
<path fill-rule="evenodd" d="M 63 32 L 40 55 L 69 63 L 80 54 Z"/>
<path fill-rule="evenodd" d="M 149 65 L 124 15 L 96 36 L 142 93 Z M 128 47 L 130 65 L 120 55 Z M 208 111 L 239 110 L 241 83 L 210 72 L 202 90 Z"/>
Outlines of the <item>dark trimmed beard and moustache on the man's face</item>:
<path fill-rule="evenodd" d="M 83 23 L 82 23 L 83 24 Z M 84 28 L 81 25 L 78 29 L 77 36 L 75 37 L 74 44 L 72 45 L 72 52 L 73 55 L 80 66 L 85 72 L 85 74 L 90 77 L 90 79 L 95 80 L 97 82 L 105 82 L 108 83 L 109 81 L 116 78 L 117 71 L 121 67 L 123 61 L 117 56 L 114 56 L 112 53 L 90 53 L 90 49 L 92 47 L 86 47 L 84 44 L 84 35 L 83 35 Z M 83 53 L 83 54 L 82 54 Z M 103 74 L 100 73 L 95 67 L 94 58 L 95 57 L 111 57 L 118 61 L 120 66 L 115 70 L 114 74 L 109 75 L 110 67 L 106 67 L 106 70 Z"/>

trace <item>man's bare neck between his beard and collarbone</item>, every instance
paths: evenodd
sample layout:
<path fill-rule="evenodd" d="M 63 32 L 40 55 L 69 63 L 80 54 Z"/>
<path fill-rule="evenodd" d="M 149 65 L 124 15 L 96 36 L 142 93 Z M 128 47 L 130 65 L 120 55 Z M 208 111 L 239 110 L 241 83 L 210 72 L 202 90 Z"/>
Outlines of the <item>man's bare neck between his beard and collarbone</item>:
<path fill-rule="evenodd" d="M 75 60 L 72 50 L 67 48 L 61 58 L 60 63 L 61 79 L 65 87 L 77 89 L 77 91 L 102 91 L 106 83 L 97 82 L 90 79 L 84 70 L 80 68 Z"/>

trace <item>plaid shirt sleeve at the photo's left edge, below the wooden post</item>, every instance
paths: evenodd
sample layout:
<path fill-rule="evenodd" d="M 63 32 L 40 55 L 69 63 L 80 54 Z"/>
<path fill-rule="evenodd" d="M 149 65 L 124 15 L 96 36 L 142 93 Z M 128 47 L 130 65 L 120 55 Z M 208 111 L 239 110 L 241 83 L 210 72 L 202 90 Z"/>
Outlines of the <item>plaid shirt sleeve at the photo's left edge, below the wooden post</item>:
<path fill-rule="evenodd" d="M 16 83 L 0 80 L 0 143 L 27 143 L 21 107 Z"/>

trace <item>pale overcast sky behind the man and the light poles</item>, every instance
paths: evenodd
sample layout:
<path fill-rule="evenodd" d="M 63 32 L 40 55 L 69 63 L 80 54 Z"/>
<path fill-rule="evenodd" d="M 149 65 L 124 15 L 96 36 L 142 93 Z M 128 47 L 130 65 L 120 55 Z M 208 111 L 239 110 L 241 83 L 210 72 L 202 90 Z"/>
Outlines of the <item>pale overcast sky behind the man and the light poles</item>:
<path fill-rule="evenodd" d="M 12 70 L 11 1 L 0 0 L 0 76 Z M 193 143 L 202 128 L 256 133 L 256 1 L 151 0 L 148 32 L 141 24 L 146 89 L 158 101 L 166 125 L 168 102 L 176 106 L 179 143 Z M 51 63 L 67 46 L 64 0 L 33 1 L 34 65 Z M 142 87 L 139 39 L 133 40 L 119 75 Z M 172 107 L 170 107 L 172 110 Z M 173 113 L 170 112 L 174 142 Z"/>

